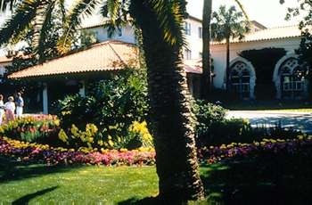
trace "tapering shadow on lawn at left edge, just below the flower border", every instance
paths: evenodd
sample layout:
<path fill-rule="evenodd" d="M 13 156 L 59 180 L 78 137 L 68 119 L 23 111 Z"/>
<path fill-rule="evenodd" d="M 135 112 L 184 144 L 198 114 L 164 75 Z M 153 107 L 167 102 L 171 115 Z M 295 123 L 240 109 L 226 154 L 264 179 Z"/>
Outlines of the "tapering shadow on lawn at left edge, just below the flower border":
<path fill-rule="evenodd" d="M 72 170 L 72 168 L 80 167 L 81 166 L 49 167 L 45 164 L 22 163 L 0 156 L 0 184 L 53 173 L 67 172 Z"/>

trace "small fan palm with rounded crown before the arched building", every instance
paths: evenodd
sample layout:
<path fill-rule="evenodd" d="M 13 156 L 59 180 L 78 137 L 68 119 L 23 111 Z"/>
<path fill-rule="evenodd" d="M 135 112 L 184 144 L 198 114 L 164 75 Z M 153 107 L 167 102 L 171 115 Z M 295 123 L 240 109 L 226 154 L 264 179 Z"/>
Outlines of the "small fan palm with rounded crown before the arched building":
<path fill-rule="evenodd" d="M 230 39 L 242 40 L 244 34 L 250 31 L 250 23 L 243 19 L 243 13 L 237 12 L 235 6 L 226 11 L 226 6 L 220 6 L 218 12 L 212 13 L 211 37 L 218 41 L 226 40 L 226 89 L 229 89 L 230 70 Z"/>

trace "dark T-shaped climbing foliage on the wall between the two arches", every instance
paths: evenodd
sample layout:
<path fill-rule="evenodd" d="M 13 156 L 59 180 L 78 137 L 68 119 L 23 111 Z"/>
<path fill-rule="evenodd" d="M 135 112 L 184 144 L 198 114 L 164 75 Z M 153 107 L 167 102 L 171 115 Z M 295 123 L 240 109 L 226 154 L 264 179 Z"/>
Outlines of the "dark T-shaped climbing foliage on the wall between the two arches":
<path fill-rule="evenodd" d="M 272 99 L 275 97 L 273 73 L 275 65 L 286 54 L 283 48 L 263 48 L 238 53 L 251 62 L 256 70 L 255 95 L 257 99 Z"/>

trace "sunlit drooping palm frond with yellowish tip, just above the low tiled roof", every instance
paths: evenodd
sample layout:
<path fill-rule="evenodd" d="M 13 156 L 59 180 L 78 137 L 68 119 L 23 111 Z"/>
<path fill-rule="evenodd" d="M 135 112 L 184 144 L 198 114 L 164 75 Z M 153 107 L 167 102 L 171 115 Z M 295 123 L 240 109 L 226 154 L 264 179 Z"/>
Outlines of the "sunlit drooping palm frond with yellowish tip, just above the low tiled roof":
<path fill-rule="evenodd" d="M 100 0 L 79 0 L 71 7 L 69 16 L 66 19 L 64 34 L 58 42 L 60 53 L 67 53 L 70 50 L 72 40 L 81 24 L 81 19 L 90 16 L 94 12 L 96 5 L 100 3 Z"/>

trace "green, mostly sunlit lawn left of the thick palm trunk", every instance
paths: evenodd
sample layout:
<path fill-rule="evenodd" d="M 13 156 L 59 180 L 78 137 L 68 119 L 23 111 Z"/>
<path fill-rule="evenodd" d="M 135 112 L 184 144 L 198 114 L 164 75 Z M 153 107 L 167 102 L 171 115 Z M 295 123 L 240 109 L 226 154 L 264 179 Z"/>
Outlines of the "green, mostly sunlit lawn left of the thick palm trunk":
<path fill-rule="evenodd" d="M 83 166 L 51 168 L 45 165 L 0 165 L 0 204 L 94 204 L 120 202 L 158 194 L 154 167 L 106 168 Z"/>

